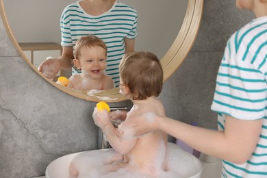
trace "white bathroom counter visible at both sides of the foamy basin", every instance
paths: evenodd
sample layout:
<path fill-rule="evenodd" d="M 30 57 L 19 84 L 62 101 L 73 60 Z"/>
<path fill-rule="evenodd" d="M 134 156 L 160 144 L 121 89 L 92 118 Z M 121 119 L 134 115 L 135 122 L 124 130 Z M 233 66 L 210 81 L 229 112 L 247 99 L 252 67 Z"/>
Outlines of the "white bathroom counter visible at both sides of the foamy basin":
<path fill-rule="evenodd" d="M 199 157 L 202 163 L 202 175 L 201 178 L 220 178 L 220 173 L 222 170 L 222 161 L 217 159 L 216 162 L 207 163 L 203 161 L 203 154 Z M 45 178 L 45 176 L 34 177 L 34 178 Z"/>

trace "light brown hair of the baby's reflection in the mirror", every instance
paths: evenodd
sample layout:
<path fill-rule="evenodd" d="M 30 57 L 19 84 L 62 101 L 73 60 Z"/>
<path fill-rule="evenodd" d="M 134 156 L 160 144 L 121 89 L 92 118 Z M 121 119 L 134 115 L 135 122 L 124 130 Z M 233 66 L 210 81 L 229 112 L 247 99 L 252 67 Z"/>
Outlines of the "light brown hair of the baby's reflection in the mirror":
<path fill-rule="evenodd" d="M 107 46 L 105 42 L 98 38 L 97 36 L 82 36 L 77 40 L 74 48 L 75 58 L 79 60 L 79 56 L 81 55 L 81 48 L 83 47 L 102 47 L 105 49 L 105 55 L 107 55 Z"/>

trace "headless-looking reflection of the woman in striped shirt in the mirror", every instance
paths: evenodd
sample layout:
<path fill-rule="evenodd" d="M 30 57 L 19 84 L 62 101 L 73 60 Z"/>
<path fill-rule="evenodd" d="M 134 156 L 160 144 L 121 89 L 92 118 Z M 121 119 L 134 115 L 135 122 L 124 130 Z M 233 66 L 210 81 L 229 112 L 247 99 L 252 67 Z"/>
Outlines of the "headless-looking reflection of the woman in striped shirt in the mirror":
<path fill-rule="evenodd" d="M 60 68 L 71 68 L 77 40 L 90 34 L 101 38 L 107 45 L 106 73 L 118 86 L 118 64 L 125 53 L 134 51 L 137 21 L 136 10 L 116 0 L 81 0 L 72 3 L 64 9 L 60 20 L 62 55 L 44 61 L 38 70 L 43 73 L 44 66 L 54 68 L 53 73 L 45 76 L 53 79 Z M 73 75 L 77 73 L 80 71 L 73 68 Z"/>

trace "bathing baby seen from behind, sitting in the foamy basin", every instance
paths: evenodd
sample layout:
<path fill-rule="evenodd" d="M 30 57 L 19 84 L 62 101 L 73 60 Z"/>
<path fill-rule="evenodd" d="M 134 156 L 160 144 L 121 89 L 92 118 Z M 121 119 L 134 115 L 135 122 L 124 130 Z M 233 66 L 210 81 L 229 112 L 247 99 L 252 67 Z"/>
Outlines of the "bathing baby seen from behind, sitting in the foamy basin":
<path fill-rule="evenodd" d="M 153 120 L 153 113 L 165 116 L 162 103 L 156 98 L 163 86 L 163 71 L 157 56 L 150 52 L 133 52 L 124 55 L 120 62 L 120 93 L 133 102 L 127 119 L 144 113 Z M 105 134 L 108 142 L 120 155 L 123 155 L 120 168 L 142 175 L 157 177 L 166 170 L 167 135 L 162 131 L 151 131 L 140 138 L 132 136 L 120 139 L 114 133 L 114 125 L 106 111 L 94 109 L 94 123 Z M 123 129 L 118 126 L 118 129 Z"/>

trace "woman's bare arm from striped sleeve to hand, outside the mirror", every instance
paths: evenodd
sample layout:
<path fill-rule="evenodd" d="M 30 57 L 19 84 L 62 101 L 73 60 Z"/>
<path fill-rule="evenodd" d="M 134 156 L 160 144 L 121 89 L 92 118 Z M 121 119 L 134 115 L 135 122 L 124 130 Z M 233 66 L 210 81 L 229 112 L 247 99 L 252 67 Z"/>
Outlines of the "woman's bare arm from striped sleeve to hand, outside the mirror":
<path fill-rule="evenodd" d="M 190 147 L 223 160 L 242 164 L 249 159 L 259 140 L 262 119 L 239 120 L 226 116 L 225 131 L 195 127 L 171 118 L 156 116 L 153 122 L 136 117 L 126 120 L 123 127 L 132 129 L 135 136 L 160 129 L 186 142 Z M 123 133 L 117 133 L 123 138 Z"/>

